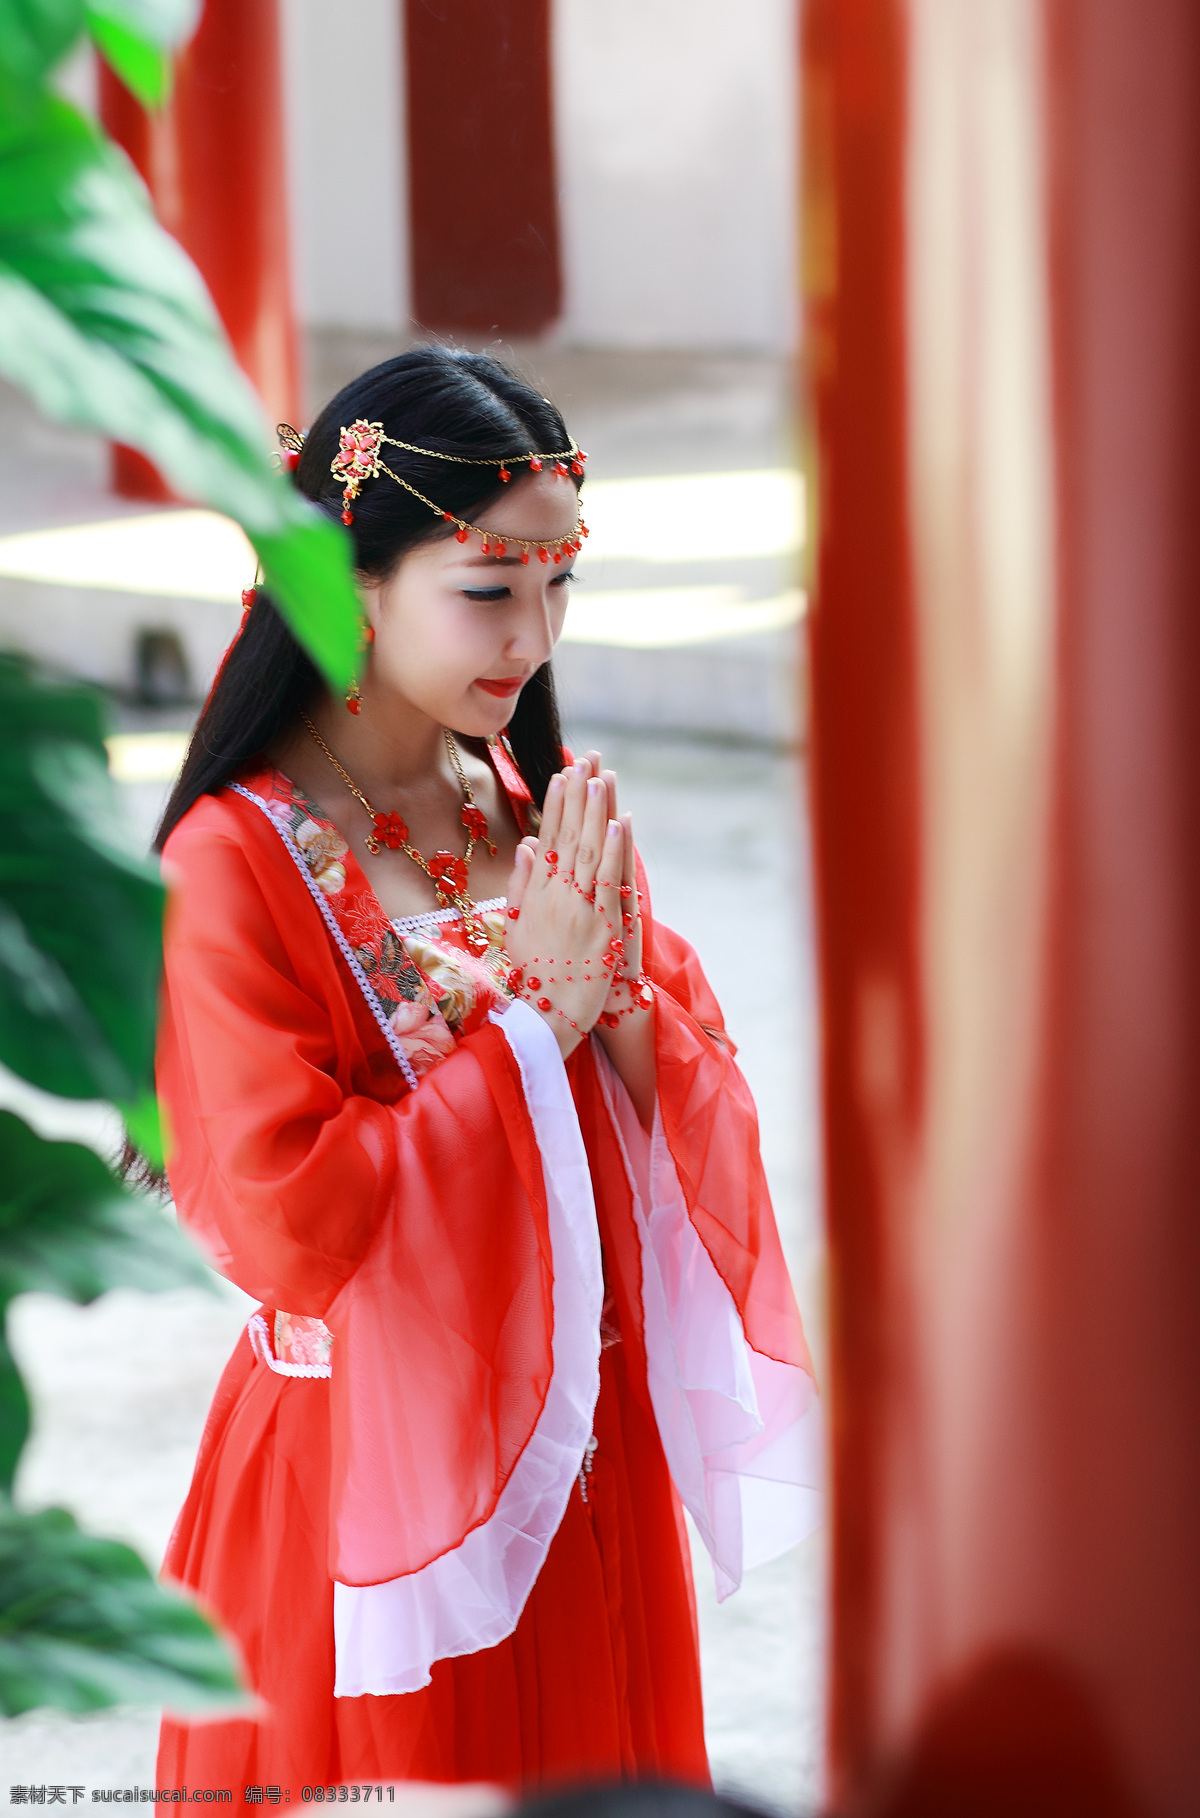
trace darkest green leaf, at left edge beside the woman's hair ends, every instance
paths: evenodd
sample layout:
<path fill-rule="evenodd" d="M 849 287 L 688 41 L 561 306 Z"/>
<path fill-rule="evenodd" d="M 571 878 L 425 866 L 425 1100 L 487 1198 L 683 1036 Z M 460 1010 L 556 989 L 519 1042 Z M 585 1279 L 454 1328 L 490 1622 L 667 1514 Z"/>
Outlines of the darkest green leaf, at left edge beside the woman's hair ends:
<path fill-rule="evenodd" d="M 0 1060 L 65 1098 L 153 1093 L 164 889 L 120 851 L 98 698 L 0 656 Z"/>

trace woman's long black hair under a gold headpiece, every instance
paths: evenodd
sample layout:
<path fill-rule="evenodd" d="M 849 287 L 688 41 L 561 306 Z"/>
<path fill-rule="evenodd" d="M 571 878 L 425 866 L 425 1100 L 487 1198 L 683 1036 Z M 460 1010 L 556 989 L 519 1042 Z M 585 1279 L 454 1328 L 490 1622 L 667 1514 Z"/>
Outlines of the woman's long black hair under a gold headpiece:
<path fill-rule="evenodd" d="M 458 518 L 476 518 L 504 493 L 504 456 L 549 453 L 571 444 L 560 413 L 533 385 L 491 355 L 415 347 L 373 365 L 325 405 L 304 440 L 295 480 L 331 518 L 342 516 L 342 487 L 329 464 L 338 431 L 358 418 L 384 424 L 389 436 L 444 454 L 469 454 L 496 467 L 431 460 L 387 447 L 387 465 Z M 449 534 L 427 505 L 382 474 L 355 500 L 355 567 L 385 580 L 400 556 L 429 536 Z M 287 629 L 269 594 L 258 589 L 242 636 L 196 720 L 184 769 L 171 793 L 155 847 L 202 794 L 211 794 L 284 733 L 322 689 L 322 678 Z M 525 684 L 507 727 L 513 754 L 535 802 L 562 767 L 562 734 L 551 665 Z"/>

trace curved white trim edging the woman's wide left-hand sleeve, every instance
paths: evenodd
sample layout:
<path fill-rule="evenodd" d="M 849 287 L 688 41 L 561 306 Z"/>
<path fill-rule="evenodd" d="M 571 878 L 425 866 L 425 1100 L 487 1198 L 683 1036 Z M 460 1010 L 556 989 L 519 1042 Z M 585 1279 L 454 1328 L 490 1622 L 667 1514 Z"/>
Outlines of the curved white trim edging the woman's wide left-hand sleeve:
<path fill-rule="evenodd" d="M 429 1683 L 435 1660 L 495 1647 L 520 1622 L 584 1469 L 600 1393 L 600 1233 L 587 1151 L 558 1044 L 524 1002 L 493 1011 L 520 1067 L 542 1153 L 555 1331 L 551 1382 L 493 1514 L 451 1553 L 378 1585 L 333 1587 L 335 1696 Z"/>

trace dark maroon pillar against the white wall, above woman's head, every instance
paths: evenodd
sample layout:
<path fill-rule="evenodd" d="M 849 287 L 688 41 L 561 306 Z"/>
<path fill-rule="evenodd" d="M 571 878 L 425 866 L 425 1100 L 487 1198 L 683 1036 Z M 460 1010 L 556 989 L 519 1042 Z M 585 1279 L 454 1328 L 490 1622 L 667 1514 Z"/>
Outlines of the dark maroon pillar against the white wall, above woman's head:
<path fill-rule="evenodd" d="M 409 0 L 413 315 L 538 335 L 562 307 L 549 0 Z"/>

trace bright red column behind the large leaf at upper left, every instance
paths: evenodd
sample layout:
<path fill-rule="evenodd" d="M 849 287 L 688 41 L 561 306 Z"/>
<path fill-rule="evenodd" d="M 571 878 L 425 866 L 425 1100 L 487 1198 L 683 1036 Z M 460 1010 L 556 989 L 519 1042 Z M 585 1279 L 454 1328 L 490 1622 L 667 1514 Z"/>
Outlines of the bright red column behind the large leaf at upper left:
<path fill-rule="evenodd" d="M 158 115 L 102 64 L 100 116 L 200 267 L 267 415 L 298 422 L 278 0 L 205 0 Z M 113 451 L 113 484 L 127 498 L 169 496 L 135 449 Z"/>

